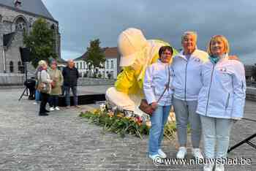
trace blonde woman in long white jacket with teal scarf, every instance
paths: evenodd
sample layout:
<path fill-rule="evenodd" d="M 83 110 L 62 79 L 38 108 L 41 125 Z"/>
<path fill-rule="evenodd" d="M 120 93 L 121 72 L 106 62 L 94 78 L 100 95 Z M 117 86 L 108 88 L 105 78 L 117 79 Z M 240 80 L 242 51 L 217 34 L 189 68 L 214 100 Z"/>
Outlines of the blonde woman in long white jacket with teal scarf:
<path fill-rule="evenodd" d="M 203 87 L 198 95 L 197 113 L 202 123 L 207 159 L 227 157 L 230 130 L 233 123 L 244 115 L 244 65 L 237 60 L 228 60 L 229 49 L 225 37 L 212 37 L 208 44 L 210 61 L 203 64 L 201 69 Z M 211 171 L 213 167 L 214 163 L 209 163 L 204 170 Z M 216 164 L 215 171 L 223 170 L 223 164 Z"/>

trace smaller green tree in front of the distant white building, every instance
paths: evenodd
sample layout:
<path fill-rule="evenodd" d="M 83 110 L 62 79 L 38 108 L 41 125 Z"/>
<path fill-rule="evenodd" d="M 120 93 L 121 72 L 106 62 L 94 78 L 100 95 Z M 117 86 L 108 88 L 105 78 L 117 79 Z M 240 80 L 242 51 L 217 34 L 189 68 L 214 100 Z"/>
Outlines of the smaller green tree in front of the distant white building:
<path fill-rule="evenodd" d="M 97 73 L 97 68 L 102 68 L 105 59 L 105 54 L 102 48 L 99 46 L 99 39 L 94 39 L 90 41 L 90 46 L 87 47 L 87 56 L 85 58 L 86 64 L 88 64 L 89 69 L 93 67 L 94 73 Z"/>

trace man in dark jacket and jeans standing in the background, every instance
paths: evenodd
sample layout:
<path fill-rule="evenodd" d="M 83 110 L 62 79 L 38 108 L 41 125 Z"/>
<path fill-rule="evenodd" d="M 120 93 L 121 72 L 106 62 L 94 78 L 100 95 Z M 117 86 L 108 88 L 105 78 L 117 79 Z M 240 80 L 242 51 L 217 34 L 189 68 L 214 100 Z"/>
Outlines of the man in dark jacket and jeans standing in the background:
<path fill-rule="evenodd" d="M 70 59 L 67 61 L 67 66 L 64 67 L 62 71 L 62 75 L 64 77 L 64 91 L 65 91 L 67 108 L 70 107 L 70 95 L 69 95 L 70 88 L 74 96 L 74 106 L 78 107 L 77 86 L 78 86 L 79 72 L 78 72 L 78 69 L 75 68 L 75 63 L 73 60 Z"/>

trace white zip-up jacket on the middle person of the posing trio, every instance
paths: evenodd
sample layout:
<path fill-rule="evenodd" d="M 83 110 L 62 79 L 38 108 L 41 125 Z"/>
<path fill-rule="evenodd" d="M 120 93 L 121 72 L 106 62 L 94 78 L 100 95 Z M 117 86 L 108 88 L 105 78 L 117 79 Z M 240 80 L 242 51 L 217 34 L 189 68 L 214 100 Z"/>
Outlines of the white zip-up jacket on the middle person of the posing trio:
<path fill-rule="evenodd" d="M 208 61 L 208 54 L 202 50 L 195 50 L 187 60 L 182 50 L 174 56 L 172 69 L 173 96 L 177 99 L 192 101 L 197 100 L 200 88 L 202 88 L 201 66 Z"/>

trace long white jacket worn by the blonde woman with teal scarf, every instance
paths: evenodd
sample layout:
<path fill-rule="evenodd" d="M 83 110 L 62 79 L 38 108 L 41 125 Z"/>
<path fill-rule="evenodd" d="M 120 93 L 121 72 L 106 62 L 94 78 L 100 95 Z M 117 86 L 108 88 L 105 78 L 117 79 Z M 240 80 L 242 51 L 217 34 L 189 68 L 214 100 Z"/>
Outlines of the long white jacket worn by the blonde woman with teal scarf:
<path fill-rule="evenodd" d="M 246 81 L 244 64 L 228 57 L 202 66 L 197 113 L 214 118 L 239 119 L 244 115 Z"/>

